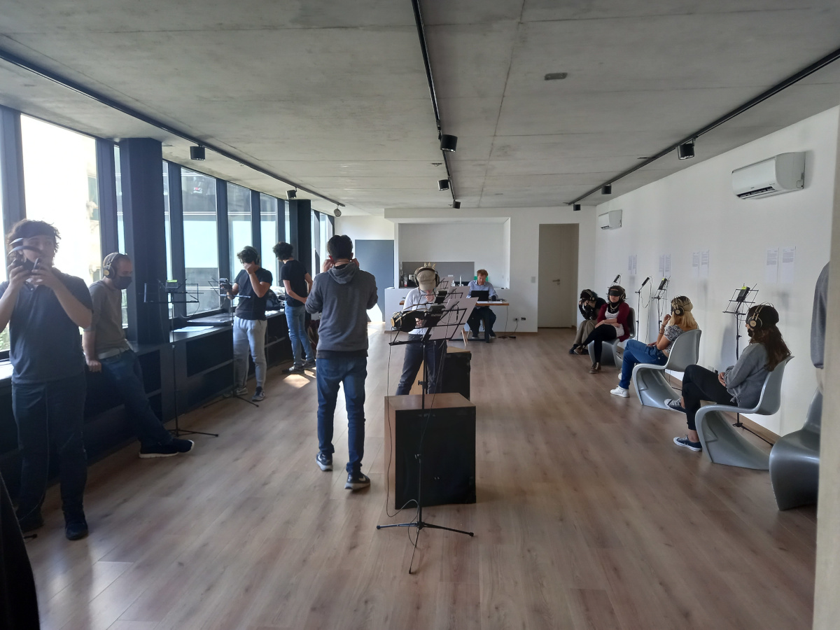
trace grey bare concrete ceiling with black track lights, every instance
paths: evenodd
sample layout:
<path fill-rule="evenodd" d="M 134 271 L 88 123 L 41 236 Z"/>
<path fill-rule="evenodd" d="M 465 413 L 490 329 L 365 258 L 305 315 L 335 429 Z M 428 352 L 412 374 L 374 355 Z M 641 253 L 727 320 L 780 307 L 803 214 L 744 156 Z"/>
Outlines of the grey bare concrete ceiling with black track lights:
<path fill-rule="evenodd" d="M 462 207 L 568 202 L 840 46 L 840 3 L 803 4 L 426 0 Z M 2 0 L 0 15 L 3 49 L 348 213 L 450 202 L 409 0 Z M 5 63 L 0 102 L 101 137 L 161 139 L 167 159 L 263 192 L 288 187 L 210 152 L 191 164 L 186 141 Z M 703 136 L 695 160 L 666 156 L 613 194 L 837 102 L 840 62 Z"/>

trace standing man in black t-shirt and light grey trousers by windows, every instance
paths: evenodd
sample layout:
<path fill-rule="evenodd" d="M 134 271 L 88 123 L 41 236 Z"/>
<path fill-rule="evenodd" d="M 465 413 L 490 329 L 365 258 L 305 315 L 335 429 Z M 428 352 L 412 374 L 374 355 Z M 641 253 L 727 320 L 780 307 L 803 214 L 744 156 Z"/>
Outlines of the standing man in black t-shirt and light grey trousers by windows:
<path fill-rule="evenodd" d="M 234 286 L 228 289 L 228 297 L 239 296 L 234 316 L 234 396 L 247 396 L 248 388 L 248 350 L 254 358 L 257 388 L 251 400 L 260 402 L 265 398 L 265 294 L 271 288 L 271 272 L 260 267 L 260 255 L 257 250 L 246 245 L 236 255 L 242 263 L 242 270 L 234 280 Z"/>

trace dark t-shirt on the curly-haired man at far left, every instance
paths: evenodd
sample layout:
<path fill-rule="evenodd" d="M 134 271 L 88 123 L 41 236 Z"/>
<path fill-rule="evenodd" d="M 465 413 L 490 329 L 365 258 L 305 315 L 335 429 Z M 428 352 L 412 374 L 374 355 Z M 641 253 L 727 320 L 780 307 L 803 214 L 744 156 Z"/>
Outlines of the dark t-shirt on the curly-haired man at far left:
<path fill-rule="evenodd" d="M 73 297 L 92 311 L 91 294 L 85 281 L 54 271 Z M 0 284 L 0 297 L 7 289 L 8 282 Z M 51 289 L 24 286 L 18 293 L 8 327 L 13 383 L 28 385 L 84 374 L 85 355 L 81 353 L 79 327 L 64 312 Z"/>

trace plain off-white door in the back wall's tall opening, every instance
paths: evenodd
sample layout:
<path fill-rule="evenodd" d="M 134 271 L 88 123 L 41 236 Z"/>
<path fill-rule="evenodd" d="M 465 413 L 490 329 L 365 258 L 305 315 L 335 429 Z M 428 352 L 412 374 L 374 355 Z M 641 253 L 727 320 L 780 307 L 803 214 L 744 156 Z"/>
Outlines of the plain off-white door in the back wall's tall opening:
<path fill-rule="evenodd" d="M 539 226 L 537 326 L 563 328 L 577 323 L 577 223 Z"/>

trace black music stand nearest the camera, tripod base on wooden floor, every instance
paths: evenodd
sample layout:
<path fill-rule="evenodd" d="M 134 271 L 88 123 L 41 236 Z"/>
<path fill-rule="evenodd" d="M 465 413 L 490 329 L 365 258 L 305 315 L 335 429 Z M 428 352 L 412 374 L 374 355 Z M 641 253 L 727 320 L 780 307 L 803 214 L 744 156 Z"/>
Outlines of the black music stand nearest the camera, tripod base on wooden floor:
<path fill-rule="evenodd" d="M 410 309 L 409 312 L 416 311 L 416 312 L 427 312 L 428 314 L 423 318 L 423 327 L 426 328 L 426 333 L 423 335 L 423 339 L 412 339 L 412 340 L 405 340 L 405 341 L 391 341 L 390 345 L 406 345 L 406 344 L 423 344 L 423 381 L 421 381 L 421 385 L 423 386 L 423 394 L 421 398 L 421 410 L 426 412 L 426 393 L 428 391 L 428 361 L 425 360 L 426 356 L 426 346 L 430 341 L 433 340 L 451 340 L 454 338 L 455 334 L 464 327 L 465 318 L 467 318 L 468 314 L 472 312 L 472 309 L 475 308 L 475 302 L 478 302 L 477 298 L 475 297 L 454 297 L 450 298 L 449 302 L 446 304 L 428 304 L 428 305 L 420 305 L 423 308 L 416 308 Z M 399 336 L 399 333 L 397 333 Z M 396 339 L 396 338 L 395 338 Z M 438 369 L 438 376 L 441 374 L 443 370 Z M 428 415 L 426 416 L 426 423 L 429 422 L 429 419 L 432 415 L 432 409 L 428 410 Z M 473 532 L 466 532 L 463 529 L 454 529 L 454 528 L 444 528 L 441 525 L 435 525 L 431 522 L 423 521 L 423 495 L 421 494 L 422 491 L 422 480 L 423 480 L 423 433 L 421 433 L 420 443 L 417 444 L 417 454 L 415 457 L 417 458 L 417 519 L 412 520 L 410 522 L 399 522 L 399 523 L 391 523 L 389 525 L 377 525 L 376 529 L 387 529 L 387 528 L 417 528 L 417 538 L 420 536 L 420 532 L 423 531 L 425 528 L 430 529 L 444 529 L 447 532 L 454 532 L 454 533 L 463 533 L 467 536 L 475 536 Z M 414 540 L 414 547 L 417 549 L 417 538 Z M 412 554 L 412 564 L 414 562 L 414 555 Z M 409 564 L 408 573 L 412 572 L 412 564 Z"/>

